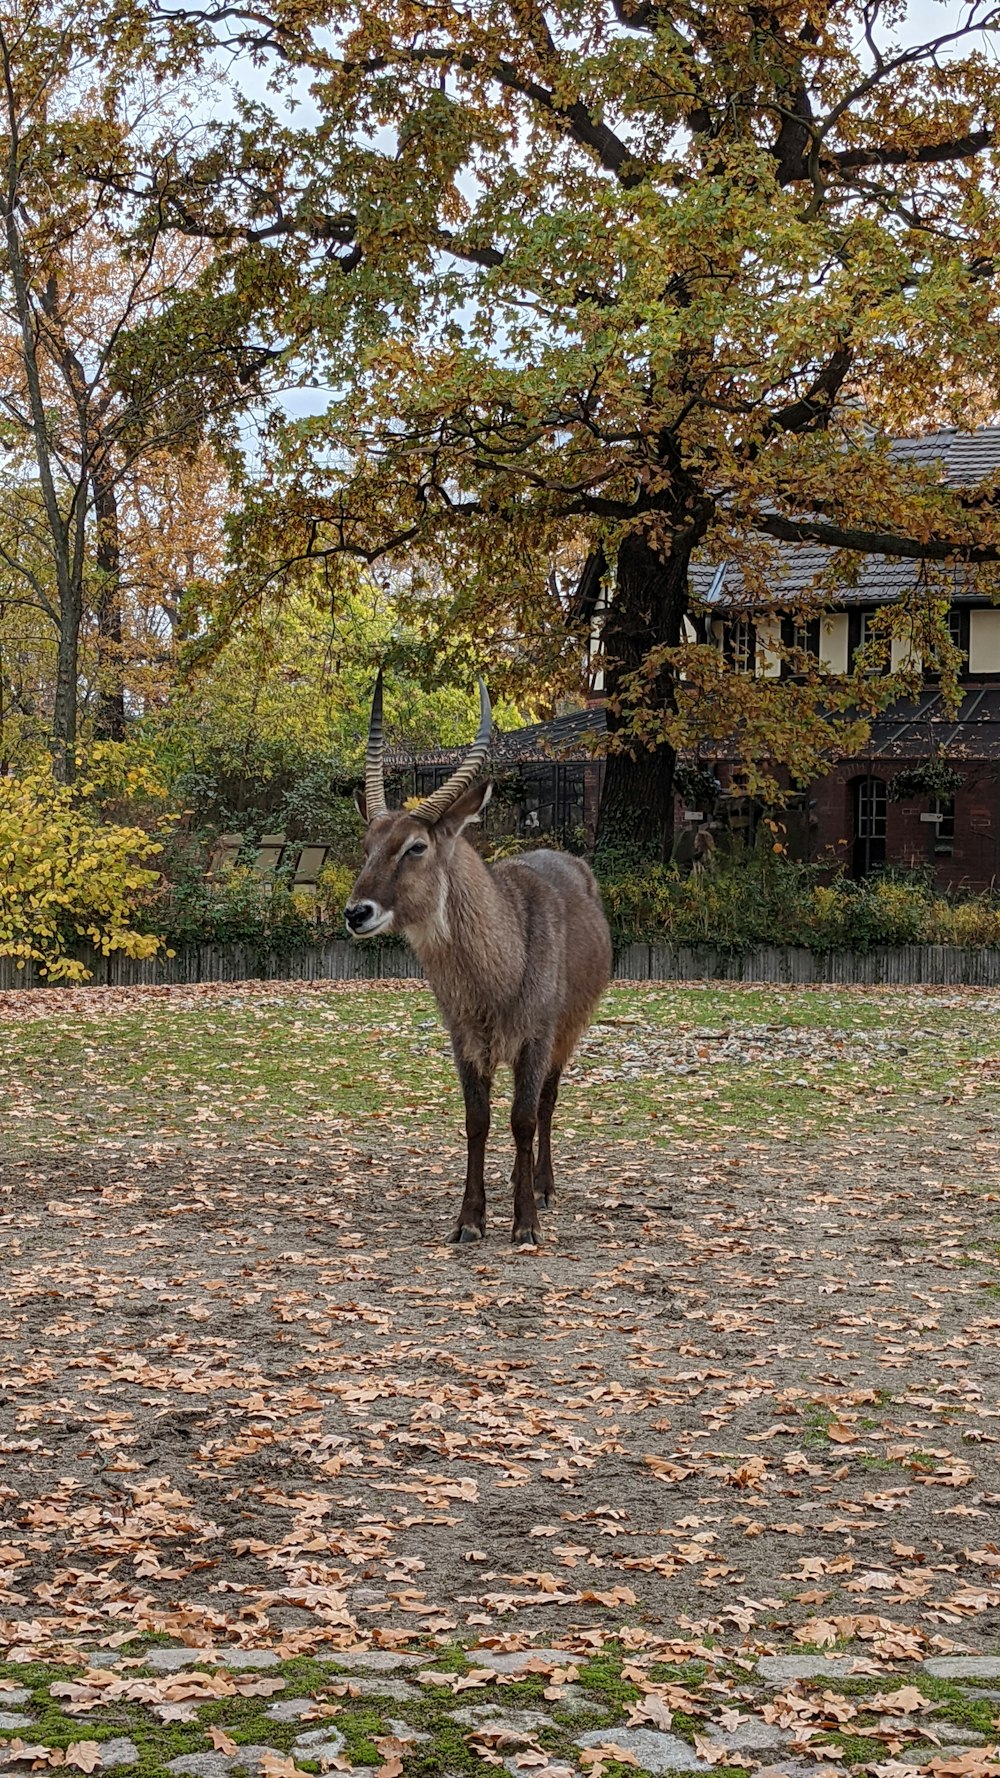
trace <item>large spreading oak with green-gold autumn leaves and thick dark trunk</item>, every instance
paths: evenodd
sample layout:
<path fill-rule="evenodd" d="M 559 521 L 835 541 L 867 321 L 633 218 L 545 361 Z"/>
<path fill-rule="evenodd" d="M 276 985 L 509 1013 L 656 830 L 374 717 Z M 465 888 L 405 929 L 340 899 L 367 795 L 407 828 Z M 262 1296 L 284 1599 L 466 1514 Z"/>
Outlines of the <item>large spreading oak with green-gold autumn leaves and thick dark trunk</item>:
<path fill-rule="evenodd" d="M 996 560 L 996 489 L 886 450 L 996 395 L 993 5 L 920 44 L 895 0 L 190 16 L 319 107 L 247 107 L 157 194 L 336 391 L 283 428 L 244 549 L 416 562 L 441 654 L 472 635 L 509 683 L 568 683 L 603 585 L 605 839 L 669 834 L 692 553 L 751 592 L 762 541 Z"/>

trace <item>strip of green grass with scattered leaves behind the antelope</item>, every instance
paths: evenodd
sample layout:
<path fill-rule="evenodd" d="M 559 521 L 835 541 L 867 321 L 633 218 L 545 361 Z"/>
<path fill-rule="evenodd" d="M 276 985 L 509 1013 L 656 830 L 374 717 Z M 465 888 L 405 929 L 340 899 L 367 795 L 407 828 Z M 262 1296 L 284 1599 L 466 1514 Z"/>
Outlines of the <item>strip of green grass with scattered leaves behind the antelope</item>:
<path fill-rule="evenodd" d="M 0 1133 L 12 1145 L 64 1149 L 151 1131 L 183 1140 L 203 1136 L 206 1117 L 219 1138 L 322 1134 L 331 1120 L 340 1131 L 356 1124 L 399 1124 L 407 1134 L 440 1124 L 461 1131 L 461 1092 L 425 989 L 358 985 L 324 996 L 290 983 L 196 1008 L 151 1001 L 142 1012 L 85 1021 L 62 1017 L 59 1005 L 53 999 L 52 1015 L 0 1029 Z M 845 1118 L 867 1125 L 940 1092 L 980 1044 L 963 1006 L 851 989 L 614 987 L 601 1017 L 610 1029 L 598 1024 L 603 1042 L 584 1047 L 560 1099 L 560 1125 L 577 1136 L 614 1127 L 671 1141 L 694 1127 L 751 1134 L 774 1125 L 819 1136 Z M 712 1065 L 715 1038 L 706 1038 L 694 1074 L 651 1067 L 614 1079 L 607 1061 L 616 1054 L 616 1021 L 635 1022 L 626 1042 L 801 1029 L 817 1038 L 817 1053 L 786 1054 L 774 1044 L 744 1063 L 737 1029 L 726 1067 Z M 169 1638 L 146 1638 L 157 1641 Z"/>

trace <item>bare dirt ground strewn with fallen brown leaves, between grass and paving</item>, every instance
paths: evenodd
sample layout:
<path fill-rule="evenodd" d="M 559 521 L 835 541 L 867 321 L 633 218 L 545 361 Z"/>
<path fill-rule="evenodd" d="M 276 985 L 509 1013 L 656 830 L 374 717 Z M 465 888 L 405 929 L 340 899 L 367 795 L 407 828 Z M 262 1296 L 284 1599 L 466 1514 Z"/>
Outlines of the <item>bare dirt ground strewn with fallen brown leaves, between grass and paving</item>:
<path fill-rule="evenodd" d="M 452 1129 L 11 1149 L 7 1655 L 996 1646 L 996 1138 L 571 1140 L 537 1253 Z"/>

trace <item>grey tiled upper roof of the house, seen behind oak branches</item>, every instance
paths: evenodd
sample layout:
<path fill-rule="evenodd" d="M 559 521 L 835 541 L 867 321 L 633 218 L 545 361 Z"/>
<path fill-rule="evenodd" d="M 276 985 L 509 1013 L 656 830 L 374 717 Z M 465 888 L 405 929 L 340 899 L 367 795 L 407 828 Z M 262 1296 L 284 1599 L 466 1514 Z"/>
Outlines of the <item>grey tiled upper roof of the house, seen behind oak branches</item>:
<path fill-rule="evenodd" d="M 927 432 L 918 439 L 893 439 L 891 455 L 920 466 L 940 464 L 948 487 L 968 487 L 1000 473 L 1000 427 L 979 427 L 975 432 L 959 432 L 948 427 Z M 792 603 L 815 585 L 833 555 L 833 549 L 824 549 L 820 544 L 778 544 L 779 565 L 772 583 L 776 603 Z M 891 605 L 916 585 L 918 574 L 920 562 L 906 562 L 897 557 L 865 557 L 858 581 L 840 587 L 836 599 L 842 605 Z M 950 574 L 952 597 L 982 597 L 977 592 L 975 567 L 956 565 Z M 738 562 L 726 562 L 722 574 L 714 562 L 692 562 L 690 585 L 692 592 L 710 605 L 726 606 L 747 597 Z"/>

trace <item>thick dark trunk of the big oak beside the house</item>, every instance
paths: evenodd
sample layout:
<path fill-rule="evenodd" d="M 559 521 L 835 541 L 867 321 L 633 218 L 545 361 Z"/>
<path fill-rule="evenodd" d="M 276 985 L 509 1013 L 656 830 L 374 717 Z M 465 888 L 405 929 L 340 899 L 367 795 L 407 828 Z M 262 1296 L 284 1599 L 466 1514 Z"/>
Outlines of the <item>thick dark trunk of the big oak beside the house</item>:
<path fill-rule="evenodd" d="M 692 535 L 673 541 L 669 555 L 633 533 L 617 551 L 616 589 L 603 631 L 605 686 L 609 693 L 609 754 L 598 814 L 598 859 L 664 861 L 673 846 L 674 750 L 653 738 L 649 747 L 630 740 L 628 679 L 651 649 L 676 647 L 687 610 L 687 571 Z M 623 708 L 616 709 L 616 702 Z M 641 708 L 658 720 L 674 708 L 674 677 L 669 667 L 653 676 Z M 616 745 L 617 736 L 621 743 Z"/>

